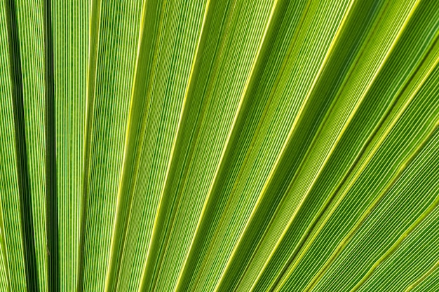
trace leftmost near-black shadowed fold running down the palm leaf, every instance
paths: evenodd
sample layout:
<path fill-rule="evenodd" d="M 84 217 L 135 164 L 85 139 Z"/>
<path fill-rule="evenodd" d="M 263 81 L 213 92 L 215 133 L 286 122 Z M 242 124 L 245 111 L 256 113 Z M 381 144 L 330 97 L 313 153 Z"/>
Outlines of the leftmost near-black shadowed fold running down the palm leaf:
<path fill-rule="evenodd" d="M 29 149 L 30 141 L 33 137 L 29 137 L 29 130 L 26 128 L 31 127 L 27 125 L 27 115 L 28 103 L 32 104 L 32 97 L 29 96 L 29 83 L 23 83 L 23 76 L 28 77 L 29 70 L 22 67 L 23 60 L 27 60 L 29 57 L 29 52 L 20 46 L 20 38 L 22 38 L 22 6 L 17 6 L 15 1 L 8 1 L 6 4 L 6 13 L 8 15 L 7 25 L 8 25 L 8 49 L 9 49 L 9 68 L 10 68 L 10 81 L 11 81 L 11 97 L 13 100 L 13 120 L 15 130 L 15 161 L 17 169 L 17 180 L 18 180 L 18 192 L 20 193 L 20 215 L 21 215 L 21 235 L 22 244 L 24 251 L 24 262 L 25 262 L 25 274 L 26 274 L 26 284 L 27 291 L 39 291 L 39 273 L 41 274 L 41 281 L 44 280 L 43 270 L 38 270 L 38 263 L 36 258 L 36 245 L 41 244 L 41 242 L 35 241 L 35 230 L 34 230 L 34 216 L 41 214 L 34 214 L 35 211 L 32 209 L 32 197 L 36 197 L 36 193 L 33 193 L 33 184 L 31 181 L 32 173 L 29 173 L 29 167 L 32 165 L 32 150 Z M 20 35 L 21 33 L 21 35 Z M 6 97 L 8 98 L 8 97 Z M 27 147 L 27 145 L 29 145 Z M 38 147 L 38 142 L 32 146 Z M 41 160 L 40 160 L 41 163 Z M 41 185 L 40 185 L 41 186 Z M 41 216 L 39 217 L 41 218 Z M 39 220 L 39 219 L 36 219 Z M 45 254 L 43 253 L 43 256 Z M 41 259 L 41 264 L 44 261 Z M 43 284 L 43 283 L 41 283 Z M 44 284 L 43 284 L 44 285 Z"/>

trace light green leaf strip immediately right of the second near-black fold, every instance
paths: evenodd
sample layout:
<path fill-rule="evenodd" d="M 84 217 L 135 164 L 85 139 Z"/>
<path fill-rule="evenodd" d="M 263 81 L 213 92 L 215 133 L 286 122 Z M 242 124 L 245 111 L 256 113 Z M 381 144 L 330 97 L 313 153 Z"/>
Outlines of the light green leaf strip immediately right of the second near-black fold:
<path fill-rule="evenodd" d="M 59 279 L 66 292 L 77 282 L 89 14 L 88 1 L 52 1 Z"/>

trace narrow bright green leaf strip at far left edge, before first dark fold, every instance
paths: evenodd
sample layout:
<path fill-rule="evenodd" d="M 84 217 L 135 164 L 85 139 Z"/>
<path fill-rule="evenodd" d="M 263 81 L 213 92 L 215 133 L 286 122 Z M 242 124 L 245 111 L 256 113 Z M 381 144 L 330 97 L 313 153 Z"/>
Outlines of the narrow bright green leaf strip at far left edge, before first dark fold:
<path fill-rule="evenodd" d="M 9 7 L 6 1 L 0 4 L 0 33 L 2 40 L 8 40 Z M 9 57 L 9 41 L 1 41 L 1 212 L 3 224 L 1 234 L 6 250 L 6 269 L 9 272 L 7 283 L 11 291 L 26 291 L 24 246 L 21 237 L 20 193 L 18 190 L 18 174 L 15 156 L 15 126 L 13 116 L 13 89 L 11 88 L 11 59 Z M 6 291 L 6 289 L 4 290 Z"/>

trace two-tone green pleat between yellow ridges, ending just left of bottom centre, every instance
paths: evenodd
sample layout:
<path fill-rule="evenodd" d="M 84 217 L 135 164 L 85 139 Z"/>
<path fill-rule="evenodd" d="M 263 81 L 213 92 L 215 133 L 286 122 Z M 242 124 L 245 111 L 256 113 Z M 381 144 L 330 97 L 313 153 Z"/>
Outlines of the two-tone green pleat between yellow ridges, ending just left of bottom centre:
<path fill-rule="evenodd" d="M 342 7 L 346 8 L 346 4 L 347 2 Z M 306 97 L 300 95 L 300 92 L 309 90 L 313 82 L 312 73 L 316 74 L 319 64 L 324 60 L 325 50 L 310 40 L 329 31 L 330 34 L 323 38 L 324 42 L 321 43 L 327 48 L 330 46 L 331 36 L 337 30 L 339 22 L 332 21 L 330 16 L 325 14 L 323 6 L 320 6 L 320 11 L 318 8 L 316 4 L 288 6 L 286 2 L 276 3 L 276 7 L 273 7 L 271 27 L 267 28 L 270 31 L 267 32 L 266 43 L 262 44 L 260 60 L 255 65 L 255 75 L 250 79 L 246 92 L 248 105 L 246 108 L 243 105 L 241 109 L 245 114 L 238 117 L 234 132 L 231 133 L 230 146 L 225 150 L 222 165 L 219 166 L 217 177 L 211 186 L 210 202 L 205 205 L 204 216 L 199 223 L 202 225 L 196 235 L 198 238 L 193 242 L 196 247 L 192 247 L 192 254 L 187 260 L 188 268 L 198 260 L 196 271 L 200 274 L 191 280 L 196 291 L 215 288 L 245 221 L 250 216 L 257 195 L 282 149 L 288 129 Z M 342 15 L 343 10 L 339 10 L 337 20 L 341 20 Z M 321 25 L 313 27 L 316 25 L 315 22 L 311 22 L 313 18 L 321 18 Z M 306 25 L 309 27 L 302 30 Z M 301 50 L 313 53 L 301 55 Z M 290 60 L 297 60 L 299 64 L 304 64 L 306 69 L 297 71 L 297 68 L 292 67 L 292 62 L 288 62 Z M 254 102 L 257 100 L 262 102 Z M 224 215 L 219 217 L 224 208 Z M 213 232 L 208 229 L 212 222 L 214 226 L 218 226 L 218 230 L 207 236 L 205 232 Z M 203 242 L 210 236 L 212 240 Z M 203 251 L 207 249 L 203 262 L 196 259 L 204 256 L 204 253 L 199 256 L 197 254 L 201 248 Z M 239 270 L 239 267 L 236 268 Z M 182 287 L 187 285 L 184 281 L 187 280 L 182 280 L 180 291 L 184 291 Z"/>

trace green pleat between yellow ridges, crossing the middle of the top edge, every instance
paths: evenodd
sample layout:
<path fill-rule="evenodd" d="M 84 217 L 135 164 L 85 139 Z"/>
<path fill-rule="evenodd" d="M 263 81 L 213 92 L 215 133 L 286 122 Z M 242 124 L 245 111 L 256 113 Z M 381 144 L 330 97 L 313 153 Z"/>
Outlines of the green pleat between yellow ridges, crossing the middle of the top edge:
<path fill-rule="evenodd" d="M 229 6 L 230 10 L 227 10 Z M 264 17 L 255 18 L 256 15 L 250 13 L 255 9 L 260 9 L 257 15 Z M 248 86 L 245 76 L 252 74 L 270 12 L 269 2 L 264 4 L 241 1 L 211 1 L 205 12 L 200 46 L 194 60 L 199 63 L 194 64 L 188 84 L 185 97 L 187 100 L 182 110 L 173 159 L 170 161 L 161 194 L 163 204 L 158 209 L 157 218 L 163 221 L 156 221 L 154 226 L 158 230 L 156 234 L 161 233 L 158 236 L 163 236 L 165 245 L 156 247 L 152 242 L 150 247 L 153 249 L 151 252 L 159 248 L 163 253 L 157 259 L 158 265 L 161 265 L 157 279 L 150 279 L 149 285 L 155 289 L 171 290 L 177 284 L 180 269 L 189 252 L 191 238 L 196 231 L 197 218 L 205 195 L 208 194 L 216 165 L 222 156 L 222 145 L 228 139 L 227 129 L 235 123 L 238 114 L 236 111 L 239 111 L 243 102 Z M 240 25 L 241 20 L 249 16 L 254 18 L 243 22 L 248 23 L 248 27 Z M 222 29 L 224 33 L 218 34 L 217 29 Z M 254 34 L 249 35 L 249 31 Z M 180 152 L 183 149 L 185 152 Z M 205 160 L 205 157 L 209 159 Z M 177 179 L 179 176 L 181 179 Z M 161 219 L 161 216 L 169 217 Z M 166 225 L 161 227 L 161 224 Z M 166 235 L 162 231 L 165 228 L 168 233 Z M 145 274 L 149 273 L 148 269 L 147 261 Z"/>

